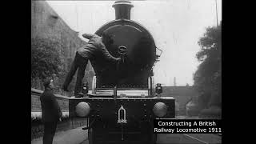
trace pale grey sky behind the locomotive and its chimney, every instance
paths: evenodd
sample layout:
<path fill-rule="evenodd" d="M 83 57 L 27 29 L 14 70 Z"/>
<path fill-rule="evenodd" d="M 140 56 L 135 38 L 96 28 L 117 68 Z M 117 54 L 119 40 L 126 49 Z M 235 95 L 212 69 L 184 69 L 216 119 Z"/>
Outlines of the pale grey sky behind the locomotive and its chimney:
<path fill-rule="evenodd" d="M 106 22 L 115 19 L 114 1 L 47 1 L 72 30 L 94 34 Z M 154 66 L 154 83 L 163 86 L 194 84 L 193 74 L 201 49 L 198 39 L 206 27 L 222 20 L 222 0 L 146 0 L 131 1 L 130 19 L 149 30 L 156 46 L 162 50 Z M 158 53 L 158 51 L 157 51 Z"/>

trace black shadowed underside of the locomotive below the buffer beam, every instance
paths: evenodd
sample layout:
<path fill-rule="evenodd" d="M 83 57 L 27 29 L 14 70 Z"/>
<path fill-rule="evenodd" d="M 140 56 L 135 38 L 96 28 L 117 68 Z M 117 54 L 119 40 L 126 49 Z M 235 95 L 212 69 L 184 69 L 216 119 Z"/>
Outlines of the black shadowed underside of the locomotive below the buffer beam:
<path fill-rule="evenodd" d="M 154 143 L 153 125 L 150 122 L 140 122 L 136 126 L 114 124 L 103 121 L 95 123 L 92 139 L 96 144 L 106 143 Z"/>

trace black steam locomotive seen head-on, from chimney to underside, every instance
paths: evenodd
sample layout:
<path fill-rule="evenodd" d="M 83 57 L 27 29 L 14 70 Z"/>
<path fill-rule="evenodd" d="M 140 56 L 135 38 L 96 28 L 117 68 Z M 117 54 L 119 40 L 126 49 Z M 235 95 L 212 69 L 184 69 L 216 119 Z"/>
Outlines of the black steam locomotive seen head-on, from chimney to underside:
<path fill-rule="evenodd" d="M 174 98 L 159 96 L 161 86 L 154 86 L 157 47 L 150 32 L 130 20 L 132 3 L 116 1 L 113 7 L 116 19 L 95 34 L 113 35 L 106 49 L 123 62 L 116 66 L 101 58 L 91 60 L 95 71 L 92 92 L 70 98 L 70 117 L 87 120 L 90 144 L 155 143 L 153 121 L 175 117 Z"/>

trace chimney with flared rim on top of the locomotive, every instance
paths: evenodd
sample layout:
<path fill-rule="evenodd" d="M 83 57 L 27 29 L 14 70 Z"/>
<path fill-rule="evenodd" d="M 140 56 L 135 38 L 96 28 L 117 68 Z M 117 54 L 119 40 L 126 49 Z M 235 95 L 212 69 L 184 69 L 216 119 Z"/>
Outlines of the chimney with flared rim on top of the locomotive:
<path fill-rule="evenodd" d="M 130 19 L 130 9 L 134 7 L 131 2 L 120 0 L 114 2 L 115 19 Z"/>

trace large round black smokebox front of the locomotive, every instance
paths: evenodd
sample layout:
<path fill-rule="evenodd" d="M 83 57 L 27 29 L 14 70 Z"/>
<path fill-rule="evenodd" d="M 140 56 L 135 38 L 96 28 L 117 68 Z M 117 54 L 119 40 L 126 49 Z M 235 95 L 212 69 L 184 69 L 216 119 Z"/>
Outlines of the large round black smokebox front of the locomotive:
<path fill-rule="evenodd" d="M 97 87 L 147 87 L 148 77 L 153 75 L 152 66 L 156 62 L 154 38 L 148 30 L 131 20 L 114 20 L 99 28 L 95 34 L 102 32 L 113 35 L 114 43 L 106 46 L 116 58 L 121 58 L 118 47 L 126 47 L 123 62 L 111 63 L 102 58 L 92 60 L 97 76 Z"/>

